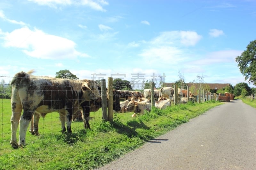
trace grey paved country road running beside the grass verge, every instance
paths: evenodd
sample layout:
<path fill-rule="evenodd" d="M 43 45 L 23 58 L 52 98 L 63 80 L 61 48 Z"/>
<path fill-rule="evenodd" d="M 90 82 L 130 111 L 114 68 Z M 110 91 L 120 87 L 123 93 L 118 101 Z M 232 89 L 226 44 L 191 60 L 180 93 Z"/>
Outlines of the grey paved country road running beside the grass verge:
<path fill-rule="evenodd" d="M 256 109 L 241 100 L 214 107 L 103 169 L 256 169 Z"/>

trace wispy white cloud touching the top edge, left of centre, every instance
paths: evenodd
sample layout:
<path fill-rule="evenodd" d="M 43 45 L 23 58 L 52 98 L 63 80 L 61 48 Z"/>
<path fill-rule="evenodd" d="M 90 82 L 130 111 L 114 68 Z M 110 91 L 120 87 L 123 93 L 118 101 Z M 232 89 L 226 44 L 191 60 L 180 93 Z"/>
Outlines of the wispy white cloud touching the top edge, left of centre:
<path fill-rule="evenodd" d="M 93 10 L 103 11 L 103 12 L 105 12 L 106 10 L 102 7 L 102 5 L 108 5 L 108 2 L 104 1 L 104 0 L 99 0 L 98 3 L 94 2 L 93 0 L 81 0 L 81 1 L 76 1 L 76 0 L 29 0 L 29 1 L 32 1 L 39 5 L 47 5 L 47 6 L 50 6 L 51 8 L 57 8 L 57 5 L 84 5 L 84 6 L 89 6 Z"/>

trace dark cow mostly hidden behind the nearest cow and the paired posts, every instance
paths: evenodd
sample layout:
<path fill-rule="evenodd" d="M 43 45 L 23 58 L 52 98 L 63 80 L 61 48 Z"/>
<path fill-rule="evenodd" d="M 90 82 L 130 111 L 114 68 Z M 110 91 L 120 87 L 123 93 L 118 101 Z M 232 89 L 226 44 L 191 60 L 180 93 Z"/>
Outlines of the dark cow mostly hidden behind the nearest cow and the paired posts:
<path fill-rule="evenodd" d="M 98 86 L 98 90 L 101 93 L 100 86 Z M 108 90 L 106 89 L 106 91 Z M 84 103 L 80 105 L 79 110 L 72 115 L 72 121 L 75 121 L 76 118 L 83 119 L 84 128 L 91 129 L 89 124 L 90 112 L 97 112 L 101 108 L 101 106 L 102 106 L 101 101 L 98 102 L 94 100 L 94 101 L 90 101 L 89 103 L 88 101 L 84 101 Z M 116 96 L 116 90 L 113 90 L 113 109 L 116 112 L 121 110 L 120 98 L 119 96 Z M 34 122 L 31 121 L 29 131 L 31 132 L 32 135 L 39 135 L 38 122 L 39 122 L 40 115 L 35 112 L 33 117 L 34 117 L 34 120 L 36 121 Z M 60 115 L 60 120 L 62 121 L 61 124 L 62 123 L 65 124 L 65 119 L 63 118 L 65 118 L 65 115 Z"/>

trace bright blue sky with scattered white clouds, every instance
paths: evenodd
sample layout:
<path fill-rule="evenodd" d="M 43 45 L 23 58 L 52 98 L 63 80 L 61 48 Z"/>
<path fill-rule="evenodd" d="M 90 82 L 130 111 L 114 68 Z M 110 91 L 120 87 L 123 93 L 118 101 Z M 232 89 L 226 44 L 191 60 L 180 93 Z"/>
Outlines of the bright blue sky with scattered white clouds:
<path fill-rule="evenodd" d="M 256 39 L 255 7 L 255 0 L 2 0 L 0 79 L 67 69 L 136 87 L 161 76 L 177 81 L 179 72 L 187 83 L 197 75 L 248 83 L 235 58 Z"/>

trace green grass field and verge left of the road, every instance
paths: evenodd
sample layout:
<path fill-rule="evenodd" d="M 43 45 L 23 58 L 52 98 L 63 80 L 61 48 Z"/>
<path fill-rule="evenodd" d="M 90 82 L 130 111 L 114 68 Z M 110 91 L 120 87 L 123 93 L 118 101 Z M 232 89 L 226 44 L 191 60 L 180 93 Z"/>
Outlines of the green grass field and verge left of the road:
<path fill-rule="evenodd" d="M 152 108 L 132 118 L 130 113 L 115 114 L 113 122 L 101 120 L 101 110 L 91 113 L 91 130 L 83 122 L 72 122 L 72 134 L 61 134 L 59 114 L 39 121 L 40 136 L 26 135 L 26 147 L 12 149 L 10 100 L 1 99 L 0 169 L 93 169 L 121 157 L 184 122 L 221 103 L 188 103 Z M 17 134 L 18 135 L 18 134 Z"/>

